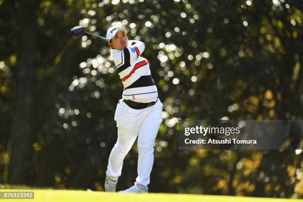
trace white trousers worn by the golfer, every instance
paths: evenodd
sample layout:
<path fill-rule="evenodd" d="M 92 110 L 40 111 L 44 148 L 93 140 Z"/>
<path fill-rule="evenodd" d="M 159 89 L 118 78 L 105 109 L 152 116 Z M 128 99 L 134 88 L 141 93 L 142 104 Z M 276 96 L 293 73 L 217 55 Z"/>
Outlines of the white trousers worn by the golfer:
<path fill-rule="evenodd" d="M 144 109 L 133 109 L 120 100 L 115 112 L 118 139 L 110 152 L 106 174 L 112 177 L 121 175 L 125 155 L 132 148 L 138 136 L 138 177 L 136 183 L 150 184 L 153 164 L 153 147 L 159 126 L 162 122 L 163 104 L 157 102 Z"/>

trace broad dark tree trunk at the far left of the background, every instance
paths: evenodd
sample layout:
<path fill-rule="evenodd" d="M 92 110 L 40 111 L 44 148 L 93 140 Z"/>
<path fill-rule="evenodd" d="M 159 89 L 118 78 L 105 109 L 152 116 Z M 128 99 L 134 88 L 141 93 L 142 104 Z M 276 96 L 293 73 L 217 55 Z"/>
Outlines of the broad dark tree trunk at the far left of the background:
<path fill-rule="evenodd" d="M 30 176 L 32 164 L 33 111 L 36 49 L 37 49 L 37 19 L 36 10 L 40 0 L 15 1 L 15 36 L 14 44 L 16 63 L 16 95 L 14 98 L 14 115 L 11 126 L 11 151 L 8 169 L 9 184 L 26 184 Z"/>

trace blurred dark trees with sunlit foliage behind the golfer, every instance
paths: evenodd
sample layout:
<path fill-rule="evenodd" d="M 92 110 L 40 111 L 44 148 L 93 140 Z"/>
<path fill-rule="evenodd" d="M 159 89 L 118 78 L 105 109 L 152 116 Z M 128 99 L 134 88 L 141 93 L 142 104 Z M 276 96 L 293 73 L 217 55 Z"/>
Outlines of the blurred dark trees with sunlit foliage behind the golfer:
<path fill-rule="evenodd" d="M 163 102 L 151 192 L 303 198 L 301 150 L 181 151 L 176 124 L 303 119 L 302 21 L 301 0 L 0 0 L 0 184 L 103 190 L 123 86 L 106 43 L 70 29 L 118 25 Z"/>

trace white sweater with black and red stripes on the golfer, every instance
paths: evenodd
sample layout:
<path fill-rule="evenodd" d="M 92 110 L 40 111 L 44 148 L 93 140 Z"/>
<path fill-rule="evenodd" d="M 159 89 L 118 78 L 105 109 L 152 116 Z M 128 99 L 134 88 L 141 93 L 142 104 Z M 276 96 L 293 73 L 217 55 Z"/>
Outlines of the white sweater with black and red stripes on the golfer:
<path fill-rule="evenodd" d="M 124 90 L 122 98 L 137 102 L 155 101 L 158 97 L 157 88 L 151 76 L 149 61 L 140 55 L 145 44 L 129 40 L 130 47 L 123 50 L 112 49 L 112 56 Z"/>

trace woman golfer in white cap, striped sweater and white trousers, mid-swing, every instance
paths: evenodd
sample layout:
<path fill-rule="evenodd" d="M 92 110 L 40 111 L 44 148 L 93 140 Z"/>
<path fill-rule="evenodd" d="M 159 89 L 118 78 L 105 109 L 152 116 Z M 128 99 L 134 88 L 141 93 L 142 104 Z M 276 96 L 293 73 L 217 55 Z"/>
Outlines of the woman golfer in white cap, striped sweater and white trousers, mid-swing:
<path fill-rule="evenodd" d="M 129 41 L 126 34 L 121 27 L 110 27 L 106 34 L 124 90 L 115 112 L 118 139 L 109 155 L 104 187 L 106 192 L 115 192 L 124 157 L 138 136 L 138 177 L 134 186 L 119 193 L 148 193 L 153 146 L 162 122 L 163 105 L 158 99 L 149 61 L 140 56 L 145 44 Z"/>

